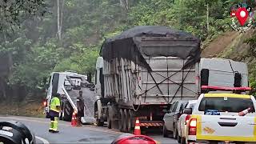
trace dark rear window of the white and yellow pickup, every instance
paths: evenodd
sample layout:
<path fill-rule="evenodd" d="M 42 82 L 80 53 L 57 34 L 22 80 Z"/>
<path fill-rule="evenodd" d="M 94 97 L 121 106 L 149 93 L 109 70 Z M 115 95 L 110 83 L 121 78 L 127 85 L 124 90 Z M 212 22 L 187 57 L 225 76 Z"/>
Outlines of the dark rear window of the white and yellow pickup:
<path fill-rule="evenodd" d="M 200 102 L 198 110 L 218 110 L 219 112 L 228 111 L 238 113 L 249 107 L 253 108 L 254 112 L 254 103 L 249 98 L 204 97 Z"/>

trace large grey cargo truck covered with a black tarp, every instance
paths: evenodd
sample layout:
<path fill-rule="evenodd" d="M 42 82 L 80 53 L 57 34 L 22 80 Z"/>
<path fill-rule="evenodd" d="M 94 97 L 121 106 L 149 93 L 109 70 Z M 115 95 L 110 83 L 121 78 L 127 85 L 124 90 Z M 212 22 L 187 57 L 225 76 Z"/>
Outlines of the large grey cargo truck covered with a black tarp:
<path fill-rule="evenodd" d="M 162 126 L 164 109 L 196 99 L 200 89 L 200 40 L 166 26 L 136 26 L 106 39 L 96 62 L 94 118 L 98 126 L 127 132 Z"/>

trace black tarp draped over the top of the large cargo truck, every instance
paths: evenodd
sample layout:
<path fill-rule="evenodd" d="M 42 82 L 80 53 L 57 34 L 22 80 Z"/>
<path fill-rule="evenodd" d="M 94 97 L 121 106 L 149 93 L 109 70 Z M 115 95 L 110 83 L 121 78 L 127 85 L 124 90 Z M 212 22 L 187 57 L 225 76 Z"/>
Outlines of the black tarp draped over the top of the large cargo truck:
<path fill-rule="evenodd" d="M 140 42 L 136 40 L 137 37 L 188 38 L 192 44 L 186 47 L 156 47 L 158 50 L 149 49 L 145 51 L 141 49 Z M 185 67 L 190 66 L 200 61 L 200 39 L 183 31 L 171 30 L 166 26 L 135 26 L 114 38 L 106 39 L 100 52 L 100 55 L 106 61 L 113 58 L 127 58 L 150 70 L 150 66 L 142 56 L 143 54 L 148 57 L 165 56 L 188 59 Z M 137 60 L 136 56 L 138 56 Z"/>

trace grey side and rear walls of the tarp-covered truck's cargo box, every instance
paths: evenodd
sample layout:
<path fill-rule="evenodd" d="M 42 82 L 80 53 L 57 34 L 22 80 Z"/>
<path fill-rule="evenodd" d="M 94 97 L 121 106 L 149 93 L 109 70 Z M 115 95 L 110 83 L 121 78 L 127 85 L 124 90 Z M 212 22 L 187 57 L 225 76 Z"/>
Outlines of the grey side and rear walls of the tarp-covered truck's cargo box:
<path fill-rule="evenodd" d="M 193 46 L 193 40 L 174 38 L 135 38 L 141 51 L 158 47 Z M 161 43 L 161 44 L 160 44 Z M 178 48 L 178 47 L 177 47 Z M 170 104 L 176 99 L 196 99 L 200 93 L 199 64 L 186 66 L 188 59 L 148 57 L 150 69 L 127 58 L 104 60 L 105 98 L 122 106 Z"/>

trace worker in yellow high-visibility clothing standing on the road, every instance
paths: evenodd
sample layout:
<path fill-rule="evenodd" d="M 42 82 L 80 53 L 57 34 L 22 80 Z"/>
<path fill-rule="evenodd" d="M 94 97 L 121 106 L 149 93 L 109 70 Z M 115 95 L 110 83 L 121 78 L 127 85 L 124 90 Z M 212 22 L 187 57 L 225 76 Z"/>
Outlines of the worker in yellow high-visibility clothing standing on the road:
<path fill-rule="evenodd" d="M 58 116 L 60 112 L 61 102 L 59 100 L 59 94 L 55 94 L 54 98 L 50 100 L 50 129 L 51 133 L 58 133 Z"/>

